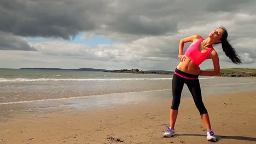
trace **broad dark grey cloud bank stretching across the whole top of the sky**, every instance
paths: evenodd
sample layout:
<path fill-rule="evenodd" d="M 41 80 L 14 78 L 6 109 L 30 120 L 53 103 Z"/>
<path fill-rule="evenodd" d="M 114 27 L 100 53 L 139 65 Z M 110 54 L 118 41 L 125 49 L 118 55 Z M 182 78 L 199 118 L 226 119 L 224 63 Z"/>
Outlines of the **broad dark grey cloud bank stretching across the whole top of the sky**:
<path fill-rule="evenodd" d="M 251 5 L 255 5 L 255 1 L 9 0 L 0 1 L 0 31 L 25 37 L 63 39 L 96 29 L 109 33 L 161 35 L 177 32 L 179 22 L 189 25 L 191 19 L 203 19 L 208 12 L 250 10 Z"/>

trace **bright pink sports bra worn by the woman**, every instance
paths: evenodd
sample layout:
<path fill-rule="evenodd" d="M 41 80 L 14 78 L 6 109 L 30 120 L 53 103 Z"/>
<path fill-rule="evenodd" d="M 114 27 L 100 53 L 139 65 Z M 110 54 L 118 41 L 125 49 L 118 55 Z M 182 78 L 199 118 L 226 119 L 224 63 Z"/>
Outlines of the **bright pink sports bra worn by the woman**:
<path fill-rule="evenodd" d="M 206 52 L 201 52 L 198 50 L 198 45 L 204 40 L 204 38 L 196 41 L 195 44 L 190 45 L 185 51 L 185 56 L 189 57 L 196 65 L 200 65 L 209 53 L 212 51 L 213 47 L 210 47 Z"/>

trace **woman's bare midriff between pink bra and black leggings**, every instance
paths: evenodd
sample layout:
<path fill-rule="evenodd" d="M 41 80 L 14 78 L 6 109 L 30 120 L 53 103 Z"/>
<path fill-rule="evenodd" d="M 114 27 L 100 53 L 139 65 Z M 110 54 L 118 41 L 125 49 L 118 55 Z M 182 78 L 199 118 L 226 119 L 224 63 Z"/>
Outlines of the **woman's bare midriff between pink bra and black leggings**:
<path fill-rule="evenodd" d="M 183 71 L 184 73 L 198 75 L 197 71 L 195 70 L 196 67 L 199 66 L 196 65 L 189 57 L 185 56 L 185 61 L 180 62 L 177 69 Z"/>

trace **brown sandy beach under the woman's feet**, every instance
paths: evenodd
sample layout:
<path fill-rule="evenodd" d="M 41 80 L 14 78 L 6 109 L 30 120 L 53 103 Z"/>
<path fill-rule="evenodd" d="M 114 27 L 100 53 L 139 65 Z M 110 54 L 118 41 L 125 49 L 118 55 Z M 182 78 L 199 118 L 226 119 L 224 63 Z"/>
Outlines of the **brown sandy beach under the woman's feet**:
<path fill-rule="evenodd" d="M 218 143 L 256 143 L 256 91 L 203 97 Z M 162 134 L 171 101 L 90 110 L 2 112 L 0 143 L 212 143 L 192 98 L 183 98 L 176 136 Z"/>

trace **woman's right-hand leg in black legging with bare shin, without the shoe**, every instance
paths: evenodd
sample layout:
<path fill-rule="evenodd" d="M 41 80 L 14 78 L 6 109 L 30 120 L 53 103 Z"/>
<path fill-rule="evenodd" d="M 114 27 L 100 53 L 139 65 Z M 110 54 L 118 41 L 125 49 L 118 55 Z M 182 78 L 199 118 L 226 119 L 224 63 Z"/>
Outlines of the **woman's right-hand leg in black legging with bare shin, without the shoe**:
<path fill-rule="evenodd" d="M 188 82 L 186 82 L 186 83 L 187 83 L 190 93 L 193 96 L 195 105 L 200 112 L 202 121 L 205 124 L 206 129 L 211 130 L 210 118 L 209 118 L 208 112 L 205 108 L 205 105 L 203 104 L 203 101 L 202 101 L 202 94 L 201 94 L 199 80 L 188 80 Z"/>

